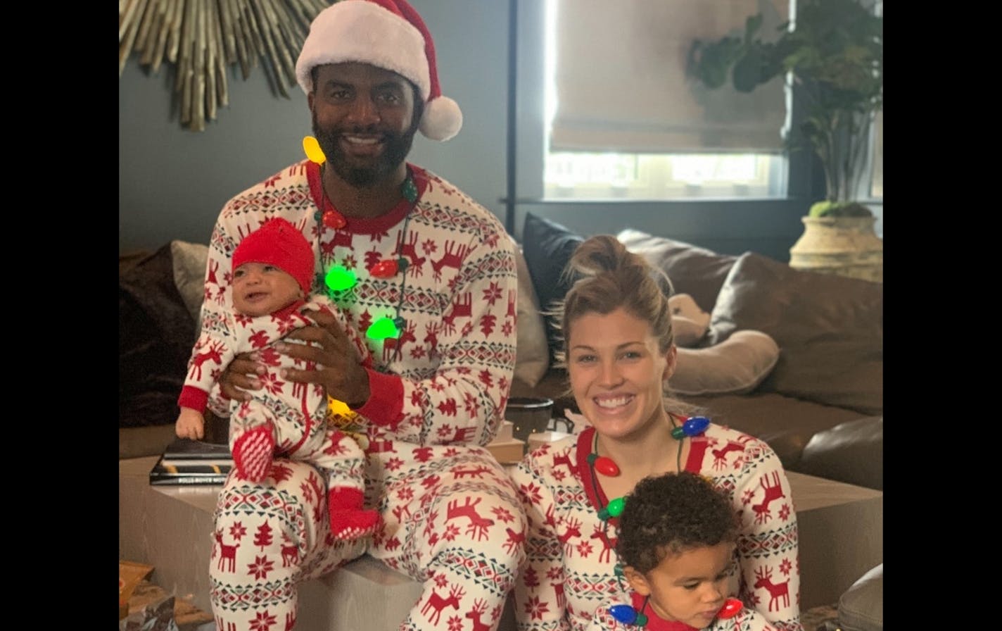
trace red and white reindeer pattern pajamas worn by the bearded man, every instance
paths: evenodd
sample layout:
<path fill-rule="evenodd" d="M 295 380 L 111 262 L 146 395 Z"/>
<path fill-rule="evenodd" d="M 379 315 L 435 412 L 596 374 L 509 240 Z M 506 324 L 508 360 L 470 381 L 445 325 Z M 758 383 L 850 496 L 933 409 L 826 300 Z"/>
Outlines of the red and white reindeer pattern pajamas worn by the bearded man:
<path fill-rule="evenodd" d="M 371 396 L 355 410 L 367 455 L 373 538 L 332 538 L 318 471 L 277 460 L 266 480 L 230 475 L 216 506 L 210 563 L 213 615 L 222 631 L 295 624 L 297 586 L 368 552 L 424 583 L 400 629 L 496 629 L 523 560 L 525 519 L 514 487 L 483 445 L 503 418 L 515 363 L 514 243 L 497 218 L 441 178 L 408 166 L 418 200 L 375 219 L 323 225 L 319 167 L 283 170 L 227 202 L 209 244 L 202 321 L 228 308 L 220 273 L 239 239 L 284 217 L 314 244 L 314 284 L 335 265 L 354 271 L 336 295 L 364 336 L 376 319 L 406 320 L 399 339 L 365 338 Z M 329 203 L 328 203 L 329 205 Z M 393 278 L 368 272 L 407 260 Z M 222 405 L 213 390 L 209 405 Z"/>

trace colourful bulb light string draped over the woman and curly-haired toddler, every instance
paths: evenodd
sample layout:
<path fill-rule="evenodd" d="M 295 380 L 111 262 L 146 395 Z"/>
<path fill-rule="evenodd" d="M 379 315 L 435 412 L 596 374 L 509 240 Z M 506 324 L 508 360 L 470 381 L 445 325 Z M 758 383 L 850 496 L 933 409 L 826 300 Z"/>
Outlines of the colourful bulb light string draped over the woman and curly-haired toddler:
<path fill-rule="evenodd" d="M 682 470 L 682 440 L 685 437 L 697 436 L 704 431 L 706 427 L 709 426 L 709 419 L 705 416 L 691 416 L 687 418 L 680 426 L 675 424 L 675 418 L 673 415 L 668 414 L 668 420 L 671 421 L 671 437 L 678 441 L 678 451 L 675 454 L 675 463 L 678 470 Z M 592 435 L 591 452 L 587 456 L 588 471 L 591 476 L 591 488 L 594 489 L 594 499 L 597 504 L 600 502 L 598 496 L 598 475 L 602 474 L 608 476 L 609 478 L 615 478 L 619 475 L 619 466 L 615 461 L 604 455 L 598 455 L 598 432 L 594 431 Z M 596 474 L 597 471 L 597 474 Z M 605 541 L 608 541 L 608 529 L 609 520 L 618 518 L 622 515 L 626 508 L 626 498 L 620 497 L 615 498 L 608 502 L 605 507 L 598 509 L 598 519 L 602 521 L 602 536 Z M 615 553 L 615 549 L 612 550 Z M 623 569 L 622 563 L 619 561 L 619 555 L 616 555 L 616 564 L 613 566 L 613 573 L 616 576 L 616 581 L 619 583 L 619 589 L 626 592 L 626 588 L 623 586 Z M 650 596 L 644 596 L 643 603 L 641 603 L 640 608 L 636 609 L 632 605 L 618 604 L 611 605 L 608 609 L 609 614 L 615 618 L 618 622 L 623 624 L 633 624 L 638 627 L 646 626 L 649 618 L 643 612 L 647 609 L 648 601 Z M 728 598 L 723 602 L 723 606 L 720 607 L 720 611 L 717 612 L 716 617 L 720 619 L 731 618 L 741 610 L 742 603 L 736 598 Z"/>

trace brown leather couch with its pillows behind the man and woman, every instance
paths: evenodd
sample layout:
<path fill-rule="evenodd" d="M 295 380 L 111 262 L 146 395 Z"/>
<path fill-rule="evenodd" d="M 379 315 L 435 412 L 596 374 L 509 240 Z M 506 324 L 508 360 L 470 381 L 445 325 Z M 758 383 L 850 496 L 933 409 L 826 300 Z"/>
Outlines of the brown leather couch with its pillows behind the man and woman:
<path fill-rule="evenodd" d="M 883 489 L 883 286 L 722 255 L 624 229 L 617 237 L 671 279 L 679 309 L 679 400 L 763 438 L 790 470 Z M 555 318 L 564 266 L 584 240 L 528 214 L 518 257 L 513 397 L 577 411 Z M 119 456 L 159 453 L 194 341 L 207 247 L 171 241 L 119 256 Z M 674 300 L 674 299 L 673 299 Z M 701 317 L 700 317 L 701 316 Z M 214 435 L 224 426 L 210 423 Z M 224 441 L 224 438 L 223 438 Z"/>

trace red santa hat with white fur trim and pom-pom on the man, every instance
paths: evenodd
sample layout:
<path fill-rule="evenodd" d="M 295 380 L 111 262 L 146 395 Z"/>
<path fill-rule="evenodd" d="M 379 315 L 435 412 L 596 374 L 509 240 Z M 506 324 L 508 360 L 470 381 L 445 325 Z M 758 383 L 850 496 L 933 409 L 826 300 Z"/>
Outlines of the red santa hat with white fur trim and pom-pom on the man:
<path fill-rule="evenodd" d="M 296 62 L 296 79 L 309 94 L 314 66 L 343 61 L 369 63 L 413 81 L 425 100 L 419 128 L 429 138 L 459 133 L 463 112 L 442 95 L 432 34 L 407 0 L 341 0 L 321 11 Z"/>

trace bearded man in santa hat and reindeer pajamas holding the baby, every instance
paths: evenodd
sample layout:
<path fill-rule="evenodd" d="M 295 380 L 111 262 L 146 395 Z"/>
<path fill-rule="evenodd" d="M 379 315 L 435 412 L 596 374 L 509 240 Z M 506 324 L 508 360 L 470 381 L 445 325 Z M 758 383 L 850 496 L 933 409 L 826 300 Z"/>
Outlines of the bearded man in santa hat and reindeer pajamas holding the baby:
<path fill-rule="evenodd" d="M 414 133 L 445 140 L 462 124 L 442 96 L 431 35 L 404 0 L 342 0 L 322 11 L 297 62 L 316 145 L 223 207 L 209 244 L 202 326 L 228 307 L 225 262 L 264 221 L 283 217 L 317 256 L 328 293 L 364 336 L 374 367 L 333 318 L 291 333 L 280 352 L 315 362 L 284 378 L 323 387 L 351 411 L 367 454 L 372 539 L 331 536 L 322 478 L 277 459 L 259 484 L 231 476 L 219 495 L 211 575 L 219 629 L 290 629 L 297 587 L 365 552 L 424 583 L 401 629 L 496 629 L 524 552 L 504 469 L 482 445 L 501 423 L 515 361 L 516 270 L 498 219 L 406 163 Z M 310 138 L 308 138 L 309 140 Z M 305 143 L 306 144 L 306 143 Z M 319 150 L 318 150 L 319 149 Z M 253 361 L 252 361 L 253 360 Z M 236 359 L 212 409 L 247 388 L 267 353 Z"/>

